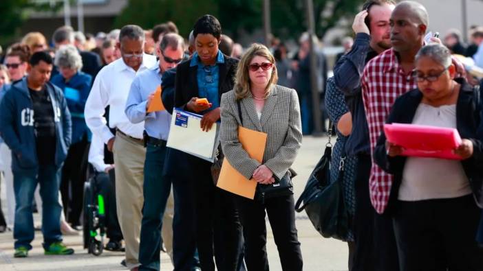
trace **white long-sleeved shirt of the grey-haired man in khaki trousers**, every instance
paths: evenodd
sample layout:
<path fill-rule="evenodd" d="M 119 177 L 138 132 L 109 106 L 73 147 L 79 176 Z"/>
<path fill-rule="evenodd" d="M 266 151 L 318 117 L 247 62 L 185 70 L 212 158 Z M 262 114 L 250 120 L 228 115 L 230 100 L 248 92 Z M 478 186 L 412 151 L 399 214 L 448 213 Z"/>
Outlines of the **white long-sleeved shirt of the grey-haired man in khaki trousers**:
<path fill-rule="evenodd" d="M 107 128 L 106 119 L 103 117 L 107 106 L 110 106 L 109 126 L 111 128 L 118 128 L 131 137 L 142 139 L 144 121 L 136 124 L 131 123 L 124 110 L 129 89 L 136 74 L 153 67 L 155 64 L 155 56 L 144 54 L 138 71 L 134 71 L 127 66 L 122 58 L 99 71 L 89 97 L 87 97 L 84 115 L 89 129 L 93 134 L 97 134 L 104 143 L 114 137 L 114 134 Z"/>

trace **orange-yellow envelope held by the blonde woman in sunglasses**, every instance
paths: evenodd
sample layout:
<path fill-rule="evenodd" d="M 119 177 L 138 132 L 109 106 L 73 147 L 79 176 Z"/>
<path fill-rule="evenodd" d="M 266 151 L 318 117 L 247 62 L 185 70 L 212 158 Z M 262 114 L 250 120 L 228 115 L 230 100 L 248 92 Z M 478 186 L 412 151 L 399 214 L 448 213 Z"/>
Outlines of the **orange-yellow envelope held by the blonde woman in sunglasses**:
<path fill-rule="evenodd" d="M 239 126 L 238 139 L 248 155 L 261 163 L 264 158 L 267 134 Z M 253 200 L 257 182 L 241 175 L 225 157 L 219 172 L 217 187 Z"/>

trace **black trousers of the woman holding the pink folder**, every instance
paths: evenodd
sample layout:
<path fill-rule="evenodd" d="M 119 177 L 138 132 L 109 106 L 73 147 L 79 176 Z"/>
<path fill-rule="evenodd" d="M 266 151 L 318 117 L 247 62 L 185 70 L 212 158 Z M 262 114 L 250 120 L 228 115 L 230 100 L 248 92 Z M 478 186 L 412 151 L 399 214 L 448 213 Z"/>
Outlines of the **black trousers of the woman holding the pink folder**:
<path fill-rule="evenodd" d="M 473 196 L 400 201 L 394 228 L 402 271 L 481 271 L 475 235 L 481 210 Z"/>

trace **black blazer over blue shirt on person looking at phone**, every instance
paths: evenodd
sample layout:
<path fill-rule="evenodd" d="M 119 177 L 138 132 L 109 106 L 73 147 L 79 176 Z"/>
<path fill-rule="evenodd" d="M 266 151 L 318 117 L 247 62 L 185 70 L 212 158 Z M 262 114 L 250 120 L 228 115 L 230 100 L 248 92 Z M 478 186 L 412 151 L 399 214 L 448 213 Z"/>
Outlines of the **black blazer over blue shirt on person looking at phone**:
<path fill-rule="evenodd" d="M 218 102 L 221 102 L 222 94 L 233 89 L 235 86 L 235 73 L 237 72 L 238 60 L 224 55 L 225 62 L 219 65 Z M 175 107 L 187 110 L 186 104 L 193 97 L 200 97 L 198 92 L 197 69 L 190 67 L 191 59 L 186 60 L 176 67 L 175 84 Z"/>

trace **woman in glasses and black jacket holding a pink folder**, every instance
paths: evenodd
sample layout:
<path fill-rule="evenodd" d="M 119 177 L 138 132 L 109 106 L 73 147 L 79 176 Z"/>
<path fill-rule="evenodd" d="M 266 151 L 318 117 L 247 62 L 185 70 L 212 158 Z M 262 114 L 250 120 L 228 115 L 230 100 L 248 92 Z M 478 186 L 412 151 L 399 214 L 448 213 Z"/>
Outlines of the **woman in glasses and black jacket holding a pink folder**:
<path fill-rule="evenodd" d="M 395 177 L 389 206 L 401 270 L 483 270 L 475 241 L 483 207 L 479 93 L 454 78 L 451 54 L 439 44 L 420 49 L 414 76 L 418 89 L 396 99 L 387 123 L 456 128 L 461 160 L 402 156 L 384 133 L 378 139 L 374 160 Z"/>

